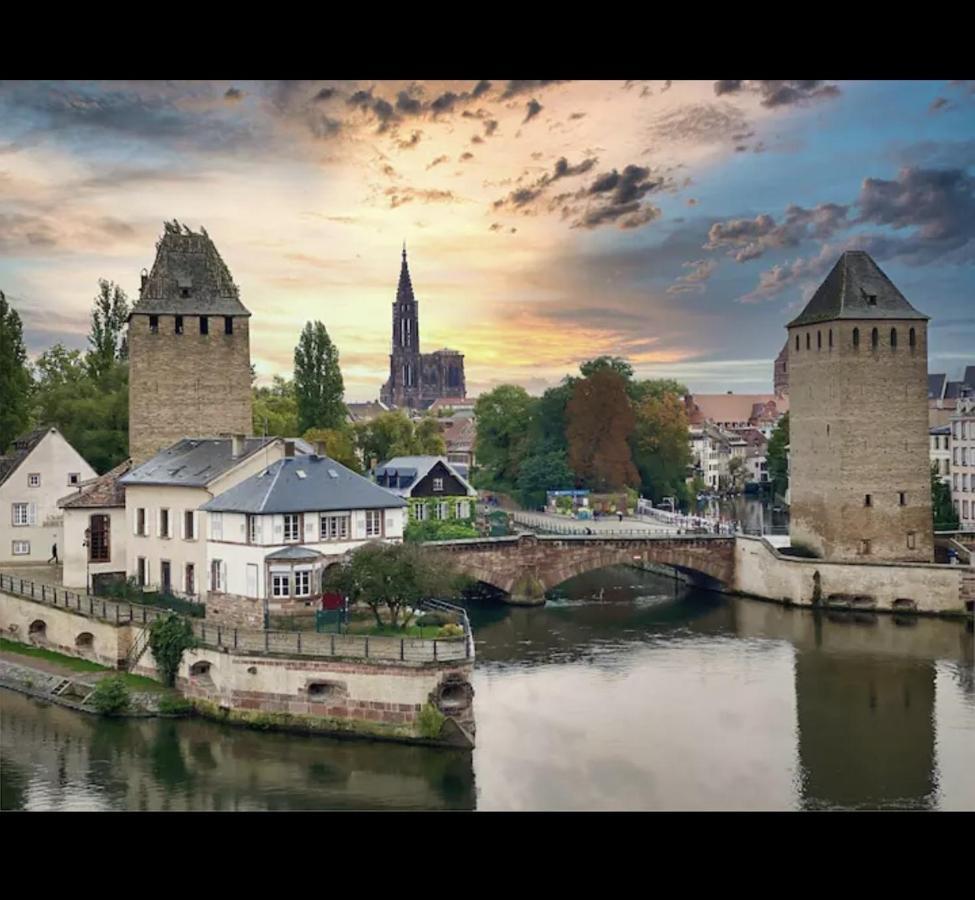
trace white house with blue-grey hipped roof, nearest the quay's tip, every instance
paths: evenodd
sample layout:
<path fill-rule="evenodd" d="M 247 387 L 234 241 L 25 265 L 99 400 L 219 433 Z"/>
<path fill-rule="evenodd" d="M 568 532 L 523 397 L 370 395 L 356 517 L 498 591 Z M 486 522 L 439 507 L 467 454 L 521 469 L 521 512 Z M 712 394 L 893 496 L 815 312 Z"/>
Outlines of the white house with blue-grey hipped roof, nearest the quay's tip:
<path fill-rule="evenodd" d="M 208 618 L 256 624 L 316 605 L 322 573 L 369 541 L 403 539 L 406 501 L 324 455 L 286 457 L 201 507 Z"/>

